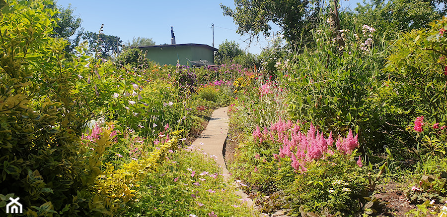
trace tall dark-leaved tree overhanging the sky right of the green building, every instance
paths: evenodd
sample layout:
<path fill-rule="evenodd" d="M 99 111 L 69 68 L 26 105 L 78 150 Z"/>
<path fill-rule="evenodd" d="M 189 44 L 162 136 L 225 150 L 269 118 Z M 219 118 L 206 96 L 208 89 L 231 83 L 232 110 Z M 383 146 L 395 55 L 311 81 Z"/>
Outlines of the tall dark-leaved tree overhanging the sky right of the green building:
<path fill-rule="evenodd" d="M 250 35 L 250 42 L 258 35 L 269 37 L 271 22 L 280 26 L 286 39 L 310 41 L 310 30 L 319 18 L 322 2 L 319 0 L 234 0 L 235 9 L 222 5 L 224 15 L 230 16 L 238 25 L 237 33 Z"/>

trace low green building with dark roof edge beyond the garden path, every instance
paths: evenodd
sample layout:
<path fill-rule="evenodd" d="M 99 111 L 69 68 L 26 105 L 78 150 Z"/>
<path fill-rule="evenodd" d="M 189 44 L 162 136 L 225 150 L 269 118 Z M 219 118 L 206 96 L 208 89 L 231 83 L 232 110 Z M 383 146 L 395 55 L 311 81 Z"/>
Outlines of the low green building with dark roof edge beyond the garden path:
<path fill-rule="evenodd" d="M 214 65 L 214 52 L 218 49 L 201 44 L 174 44 L 138 47 L 148 51 L 148 59 L 161 65 Z"/>

